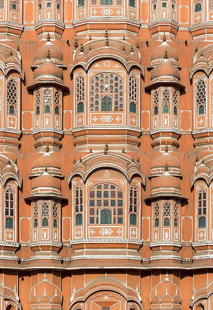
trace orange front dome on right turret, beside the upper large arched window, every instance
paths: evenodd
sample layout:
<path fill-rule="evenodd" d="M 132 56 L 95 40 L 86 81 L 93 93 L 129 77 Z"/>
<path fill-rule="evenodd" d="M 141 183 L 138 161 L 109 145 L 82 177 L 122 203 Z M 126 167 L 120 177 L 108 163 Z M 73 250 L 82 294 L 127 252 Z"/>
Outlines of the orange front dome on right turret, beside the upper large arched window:
<path fill-rule="evenodd" d="M 159 77 L 161 75 L 171 75 L 173 77 L 176 77 L 177 79 L 180 79 L 180 71 L 167 59 L 164 59 L 162 63 L 154 67 L 154 69 L 151 71 L 151 79 Z"/>

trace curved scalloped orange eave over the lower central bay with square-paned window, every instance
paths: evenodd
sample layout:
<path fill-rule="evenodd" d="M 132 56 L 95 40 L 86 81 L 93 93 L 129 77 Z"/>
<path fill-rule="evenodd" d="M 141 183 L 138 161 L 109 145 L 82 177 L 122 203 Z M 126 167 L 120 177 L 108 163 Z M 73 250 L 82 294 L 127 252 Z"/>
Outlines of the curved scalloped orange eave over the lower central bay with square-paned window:
<path fill-rule="evenodd" d="M 132 158 L 124 153 L 108 151 L 107 155 L 96 152 L 86 155 L 81 159 L 81 163 L 74 164 L 68 184 L 74 176 L 80 175 L 85 182 L 89 175 L 100 169 L 110 168 L 121 172 L 128 182 L 133 175 L 139 175 L 141 182 L 145 185 L 145 175 L 141 173 L 140 164 L 132 162 Z"/>

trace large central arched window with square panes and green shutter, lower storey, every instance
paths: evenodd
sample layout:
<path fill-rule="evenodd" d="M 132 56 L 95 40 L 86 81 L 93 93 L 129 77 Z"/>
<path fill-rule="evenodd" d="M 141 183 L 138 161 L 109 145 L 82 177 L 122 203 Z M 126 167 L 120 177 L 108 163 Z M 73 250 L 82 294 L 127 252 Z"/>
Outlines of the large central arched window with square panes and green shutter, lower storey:
<path fill-rule="evenodd" d="M 123 224 L 124 194 L 115 184 L 99 184 L 89 192 L 89 224 Z"/>

